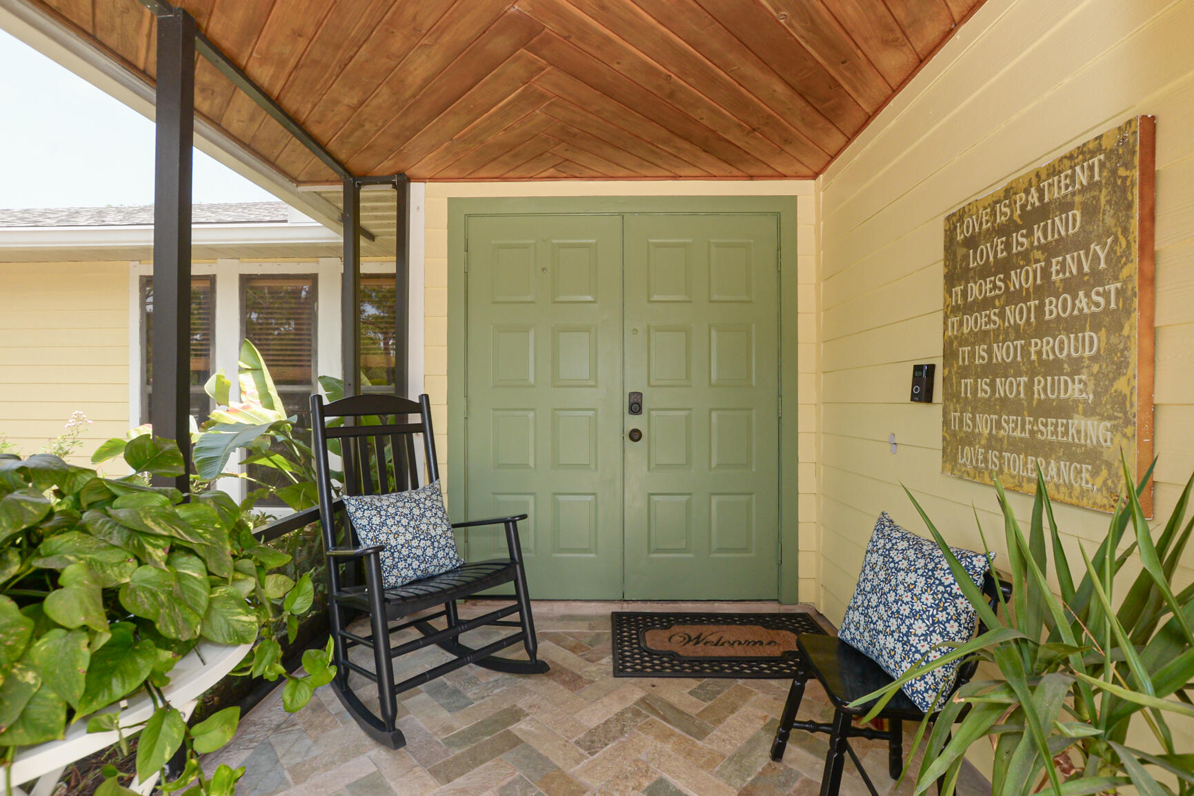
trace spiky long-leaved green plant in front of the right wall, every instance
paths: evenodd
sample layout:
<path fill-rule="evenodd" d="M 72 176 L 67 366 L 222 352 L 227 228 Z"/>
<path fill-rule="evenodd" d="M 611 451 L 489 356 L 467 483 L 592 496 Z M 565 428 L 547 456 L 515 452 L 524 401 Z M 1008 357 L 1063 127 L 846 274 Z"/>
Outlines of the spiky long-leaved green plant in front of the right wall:
<path fill-rule="evenodd" d="M 1194 794 L 1194 751 L 1175 745 L 1168 723 L 1173 716 L 1194 718 L 1188 693 L 1194 687 L 1194 586 L 1175 593 L 1171 585 L 1194 530 L 1194 519 L 1186 520 L 1194 476 L 1155 538 L 1139 498 L 1151 474 L 1149 468 L 1133 487 L 1124 464 L 1126 494 L 1106 538 L 1094 555 L 1078 542 L 1084 568 L 1077 582 L 1041 474 L 1027 538 L 996 481 L 1013 585 L 1011 604 L 1003 604 L 1001 596 L 998 612 L 905 488 L 990 630 L 855 704 L 879 697 L 869 720 L 904 683 L 960 658 L 978 656 L 1001 675 L 972 680 L 941 708 L 916 794 L 943 778 L 942 792 L 949 796 L 966 751 L 985 738 L 995 746 L 996 796 L 1038 791 L 1082 796 L 1130 785 L 1143 796 Z M 1132 537 L 1118 553 L 1128 527 Z M 1051 548 L 1059 593 L 1045 574 Z M 1132 560 L 1143 569 L 1121 592 L 1116 575 Z M 917 732 L 917 748 L 928 724 L 927 720 Z M 1146 746 L 1153 751 L 1141 748 Z"/>

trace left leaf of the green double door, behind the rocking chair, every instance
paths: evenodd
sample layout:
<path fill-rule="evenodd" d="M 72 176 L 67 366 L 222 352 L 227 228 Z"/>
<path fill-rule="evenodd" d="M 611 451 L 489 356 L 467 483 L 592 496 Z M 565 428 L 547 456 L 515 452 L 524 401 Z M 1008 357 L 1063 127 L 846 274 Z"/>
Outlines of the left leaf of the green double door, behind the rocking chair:
<path fill-rule="evenodd" d="M 622 221 L 467 221 L 468 517 L 536 598 L 622 597 Z M 468 557 L 506 555 L 469 529 Z"/>

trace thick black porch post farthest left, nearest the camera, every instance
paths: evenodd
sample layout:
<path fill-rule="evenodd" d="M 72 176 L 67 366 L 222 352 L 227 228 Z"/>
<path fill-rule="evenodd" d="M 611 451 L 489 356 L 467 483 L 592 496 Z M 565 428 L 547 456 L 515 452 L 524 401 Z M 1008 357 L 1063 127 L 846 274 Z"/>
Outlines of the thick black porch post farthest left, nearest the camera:
<path fill-rule="evenodd" d="M 191 147 L 195 134 L 195 19 L 158 18 L 153 227 L 154 434 L 178 442 L 190 469 Z M 170 479 L 186 492 L 186 475 Z"/>

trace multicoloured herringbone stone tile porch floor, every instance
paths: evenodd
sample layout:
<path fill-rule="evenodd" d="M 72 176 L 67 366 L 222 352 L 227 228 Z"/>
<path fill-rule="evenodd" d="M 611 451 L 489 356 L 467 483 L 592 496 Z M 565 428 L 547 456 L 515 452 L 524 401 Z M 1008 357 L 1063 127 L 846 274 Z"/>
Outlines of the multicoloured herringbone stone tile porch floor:
<path fill-rule="evenodd" d="M 788 681 L 613 677 L 609 612 L 652 607 L 536 603 L 540 655 L 550 673 L 468 666 L 404 693 L 399 727 L 407 746 L 398 751 L 367 738 L 331 687 L 294 715 L 282 710 L 279 689 L 244 718 L 229 746 L 208 755 L 205 767 L 244 765 L 240 796 L 817 794 L 826 736 L 795 732 L 782 763 L 768 757 Z M 716 610 L 707 603 L 657 607 Z M 461 612 L 484 610 L 482 603 Z M 738 603 L 725 610 L 781 609 Z M 398 666 L 413 672 L 447 659 L 432 647 Z M 831 716 L 816 681 L 800 715 Z M 880 791 L 891 790 L 886 747 L 851 742 Z M 899 790 L 910 794 L 910 785 Z M 850 763 L 842 794 L 866 794 Z"/>

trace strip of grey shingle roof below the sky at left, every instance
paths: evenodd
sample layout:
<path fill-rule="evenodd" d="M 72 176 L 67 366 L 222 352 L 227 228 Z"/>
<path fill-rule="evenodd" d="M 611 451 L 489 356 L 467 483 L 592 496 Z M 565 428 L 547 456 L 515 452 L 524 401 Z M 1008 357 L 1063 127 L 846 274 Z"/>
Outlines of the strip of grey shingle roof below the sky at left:
<path fill-rule="evenodd" d="M 285 202 L 222 202 L 196 204 L 191 220 L 196 224 L 264 224 L 285 223 L 289 217 Z M 0 227 L 149 227 L 153 226 L 153 205 L 110 208 L 32 208 L 6 210 L 0 208 Z"/>

